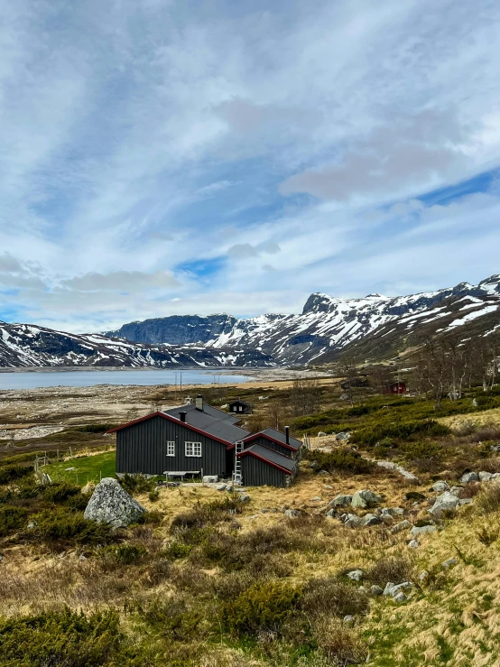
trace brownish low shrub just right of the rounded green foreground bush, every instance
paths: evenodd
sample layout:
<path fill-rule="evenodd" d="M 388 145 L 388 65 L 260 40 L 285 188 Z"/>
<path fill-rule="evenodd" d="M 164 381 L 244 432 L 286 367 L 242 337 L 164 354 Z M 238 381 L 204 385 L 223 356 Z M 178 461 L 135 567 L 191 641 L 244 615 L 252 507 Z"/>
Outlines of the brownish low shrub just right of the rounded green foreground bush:
<path fill-rule="evenodd" d="M 310 579 L 302 591 L 300 607 L 308 615 L 355 616 L 366 614 L 366 593 L 335 577 Z"/>

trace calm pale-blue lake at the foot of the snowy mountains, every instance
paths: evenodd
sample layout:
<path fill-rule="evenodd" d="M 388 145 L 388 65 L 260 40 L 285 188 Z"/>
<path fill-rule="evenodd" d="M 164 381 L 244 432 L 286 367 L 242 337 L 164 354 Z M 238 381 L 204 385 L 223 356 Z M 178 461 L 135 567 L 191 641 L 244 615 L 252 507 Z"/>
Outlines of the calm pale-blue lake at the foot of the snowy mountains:
<path fill-rule="evenodd" d="M 249 375 L 230 375 L 218 368 L 173 370 L 85 370 L 85 371 L 26 371 L 0 373 L 2 389 L 37 389 L 39 387 L 88 387 L 95 384 L 236 384 L 251 380 Z"/>

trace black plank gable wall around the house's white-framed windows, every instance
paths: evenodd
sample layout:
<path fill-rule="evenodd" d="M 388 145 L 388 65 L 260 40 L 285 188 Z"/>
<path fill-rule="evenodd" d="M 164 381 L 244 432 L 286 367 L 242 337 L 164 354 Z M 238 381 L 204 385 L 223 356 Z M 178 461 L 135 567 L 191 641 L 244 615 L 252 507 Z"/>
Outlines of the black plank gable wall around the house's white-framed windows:
<path fill-rule="evenodd" d="M 175 457 L 167 456 L 167 440 L 175 441 Z M 184 443 L 201 442 L 201 457 L 186 457 Z M 162 417 L 116 432 L 116 472 L 162 475 L 165 470 L 201 470 L 204 475 L 226 473 L 226 445 Z M 230 474 L 230 471 L 228 471 Z"/>

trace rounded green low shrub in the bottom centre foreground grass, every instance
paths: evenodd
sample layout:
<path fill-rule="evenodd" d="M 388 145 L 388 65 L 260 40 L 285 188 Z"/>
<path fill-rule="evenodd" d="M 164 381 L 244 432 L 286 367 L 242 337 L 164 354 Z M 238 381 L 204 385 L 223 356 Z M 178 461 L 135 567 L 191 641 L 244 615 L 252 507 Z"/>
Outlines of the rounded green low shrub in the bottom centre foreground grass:
<path fill-rule="evenodd" d="M 291 584 L 277 580 L 257 582 L 224 605 L 223 624 L 235 635 L 280 632 L 299 598 L 300 591 Z"/>

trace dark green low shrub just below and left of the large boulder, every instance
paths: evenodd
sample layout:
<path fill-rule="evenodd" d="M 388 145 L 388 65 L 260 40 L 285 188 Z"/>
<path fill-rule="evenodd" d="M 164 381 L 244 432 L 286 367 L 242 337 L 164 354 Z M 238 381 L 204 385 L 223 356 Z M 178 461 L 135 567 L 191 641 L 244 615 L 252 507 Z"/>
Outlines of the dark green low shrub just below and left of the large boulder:
<path fill-rule="evenodd" d="M 19 533 L 20 538 L 29 542 L 107 544 L 119 537 L 106 523 L 84 519 L 83 514 L 62 507 L 43 510 L 31 518 L 33 527 Z"/>

